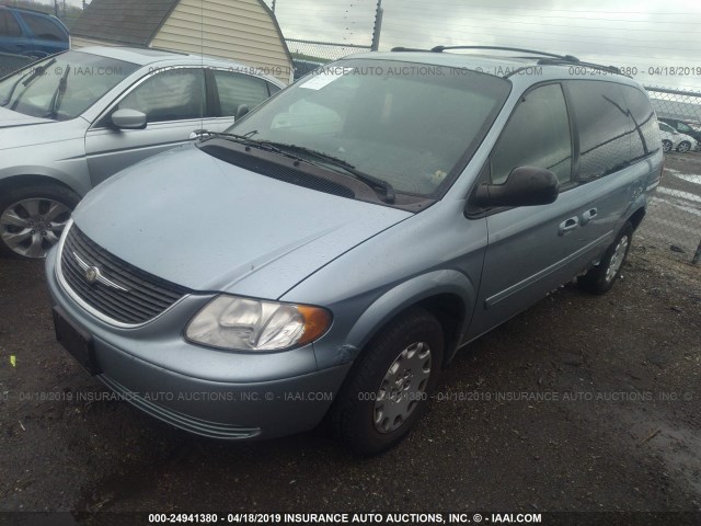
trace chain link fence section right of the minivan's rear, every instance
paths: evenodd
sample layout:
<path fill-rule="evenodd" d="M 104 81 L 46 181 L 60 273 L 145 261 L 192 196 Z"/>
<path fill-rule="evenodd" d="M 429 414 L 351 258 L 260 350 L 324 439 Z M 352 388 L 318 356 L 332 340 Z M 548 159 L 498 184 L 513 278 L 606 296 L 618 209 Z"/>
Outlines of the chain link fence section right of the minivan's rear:
<path fill-rule="evenodd" d="M 665 171 L 639 239 L 701 263 L 701 93 L 646 87 L 659 121 Z"/>

